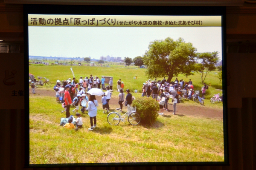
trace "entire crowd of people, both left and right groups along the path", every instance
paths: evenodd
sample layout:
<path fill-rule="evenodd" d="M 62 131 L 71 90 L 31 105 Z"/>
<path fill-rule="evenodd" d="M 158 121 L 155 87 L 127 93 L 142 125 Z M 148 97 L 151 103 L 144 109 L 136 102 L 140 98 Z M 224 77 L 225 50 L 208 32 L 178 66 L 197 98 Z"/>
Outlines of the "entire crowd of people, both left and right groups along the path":
<path fill-rule="evenodd" d="M 135 77 L 136 79 L 137 77 Z M 118 104 L 120 105 L 120 109 L 122 111 L 123 105 L 131 105 L 132 103 L 132 95 L 130 90 L 127 89 L 126 95 L 124 93 L 124 82 L 121 79 L 117 80 L 117 91 L 118 94 Z M 35 85 L 32 83 L 32 93 L 35 93 Z M 56 101 L 62 103 L 62 107 L 65 109 L 61 111 L 61 113 L 66 112 L 66 118 L 69 118 L 67 125 L 64 127 L 67 128 L 75 128 L 74 125 L 71 125 L 73 122 L 73 115 L 70 116 L 70 106 L 73 105 L 75 108 L 72 110 L 73 113 L 76 113 L 76 129 L 82 127 L 82 119 L 81 113 L 88 111 L 88 115 L 90 116 L 90 128 L 89 130 L 93 130 L 96 127 L 96 115 L 97 115 L 97 107 L 99 106 L 98 101 L 94 95 L 90 95 L 89 98 L 87 97 L 88 91 L 91 88 L 102 88 L 102 90 L 106 90 L 105 93 L 102 95 L 102 108 L 103 113 L 105 111 L 108 113 L 110 106 L 109 101 L 111 99 L 111 91 L 113 91 L 113 80 L 110 78 L 108 82 L 108 86 L 105 86 L 105 78 L 102 76 L 101 79 L 99 77 L 90 75 L 90 77 L 80 77 L 79 81 L 77 82 L 75 78 L 71 80 L 71 78 L 60 81 L 57 80 L 56 85 L 54 86 L 54 90 L 56 92 Z M 201 89 L 202 96 L 204 97 L 208 86 L 204 83 L 204 87 Z M 145 83 L 143 83 L 142 87 L 142 96 L 152 97 L 155 99 L 160 106 L 159 115 L 163 115 L 163 111 L 168 111 L 168 101 L 172 99 L 173 102 L 173 114 L 176 114 L 176 105 L 180 103 L 179 96 L 185 95 L 187 99 L 191 99 L 194 93 L 194 85 L 192 80 L 189 79 L 188 82 L 185 82 L 183 79 L 178 80 L 177 78 L 175 81 L 167 82 L 165 77 L 163 80 L 148 79 Z M 183 91 L 181 93 L 180 91 Z M 82 105 L 82 102 L 85 104 Z M 81 109 L 79 108 L 81 107 Z M 71 121 L 71 122 L 70 122 Z"/>

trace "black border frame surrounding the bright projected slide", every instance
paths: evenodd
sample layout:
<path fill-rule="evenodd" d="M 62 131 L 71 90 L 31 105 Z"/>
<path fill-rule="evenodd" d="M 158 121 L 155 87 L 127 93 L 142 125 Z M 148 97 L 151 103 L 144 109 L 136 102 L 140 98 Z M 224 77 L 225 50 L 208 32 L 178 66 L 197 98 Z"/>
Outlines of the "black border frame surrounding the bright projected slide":
<path fill-rule="evenodd" d="M 29 164 L 29 86 L 25 82 L 25 164 L 37 167 L 110 167 L 110 166 L 221 166 L 229 165 L 227 130 L 227 56 L 226 7 L 206 6 L 75 6 L 75 5 L 23 5 L 24 25 L 24 77 L 29 75 L 28 14 L 79 14 L 79 15 L 218 15 L 222 30 L 222 89 L 223 89 L 223 162 L 131 162 L 131 163 L 81 163 L 81 164 Z"/>

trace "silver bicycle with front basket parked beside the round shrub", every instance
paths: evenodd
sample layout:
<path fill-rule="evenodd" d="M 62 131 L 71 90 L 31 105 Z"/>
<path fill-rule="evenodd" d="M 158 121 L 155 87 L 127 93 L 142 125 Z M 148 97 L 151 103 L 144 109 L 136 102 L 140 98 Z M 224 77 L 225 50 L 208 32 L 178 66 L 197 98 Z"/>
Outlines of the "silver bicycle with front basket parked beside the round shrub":
<path fill-rule="evenodd" d="M 138 125 L 140 123 L 140 115 L 136 113 L 136 107 L 131 107 L 127 105 L 128 111 L 121 115 L 121 108 L 116 108 L 118 112 L 111 112 L 108 114 L 108 123 L 110 125 L 118 125 L 120 121 L 125 122 L 125 117 L 127 117 L 128 122 L 131 125 Z"/>

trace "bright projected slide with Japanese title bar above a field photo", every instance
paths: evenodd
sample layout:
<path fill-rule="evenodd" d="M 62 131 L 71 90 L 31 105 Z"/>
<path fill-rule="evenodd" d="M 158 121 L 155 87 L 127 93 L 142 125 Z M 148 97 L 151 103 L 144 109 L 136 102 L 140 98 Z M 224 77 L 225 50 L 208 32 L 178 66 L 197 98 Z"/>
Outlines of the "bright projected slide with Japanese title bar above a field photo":
<path fill-rule="evenodd" d="M 29 164 L 224 162 L 221 16 L 28 23 Z"/>

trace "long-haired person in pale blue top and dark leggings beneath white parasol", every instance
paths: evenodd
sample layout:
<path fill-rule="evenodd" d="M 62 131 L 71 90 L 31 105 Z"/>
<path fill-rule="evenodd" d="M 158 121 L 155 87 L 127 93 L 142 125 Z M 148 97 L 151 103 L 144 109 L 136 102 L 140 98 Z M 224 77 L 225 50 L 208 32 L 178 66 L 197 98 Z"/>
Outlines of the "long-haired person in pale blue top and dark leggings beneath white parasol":
<path fill-rule="evenodd" d="M 96 127 L 96 115 L 97 115 L 98 106 L 99 106 L 98 101 L 96 100 L 95 96 L 90 95 L 88 107 L 86 108 L 86 110 L 88 111 L 88 115 L 90 116 L 90 125 L 91 125 L 91 127 L 88 128 L 88 130 L 93 130 L 93 128 Z"/>

